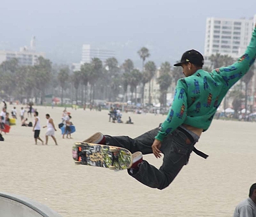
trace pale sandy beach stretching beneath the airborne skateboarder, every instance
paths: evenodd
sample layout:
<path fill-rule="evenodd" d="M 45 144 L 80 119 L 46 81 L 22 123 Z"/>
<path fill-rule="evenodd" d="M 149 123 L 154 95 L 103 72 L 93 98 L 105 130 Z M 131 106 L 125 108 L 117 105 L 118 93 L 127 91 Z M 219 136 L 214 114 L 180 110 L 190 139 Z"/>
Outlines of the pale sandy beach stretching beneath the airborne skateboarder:
<path fill-rule="evenodd" d="M 13 106 L 8 105 L 7 111 Z M 18 114 L 20 106 L 16 106 Z M 63 108 L 35 106 L 46 125 L 46 113 L 55 125 Z M 189 164 L 174 182 L 160 191 L 150 189 L 130 177 L 127 171 L 76 166 L 71 155 L 74 142 L 96 131 L 110 135 L 137 137 L 165 119 L 162 115 L 123 113 L 134 125 L 111 123 L 108 111 L 68 109 L 77 132 L 73 139 L 55 133 L 58 146 L 49 138 L 48 146 L 34 144 L 32 127 L 21 127 L 20 119 L 0 142 L 0 191 L 23 195 L 68 216 L 232 216 L 238 202 L 248 197 L 256 182 L 256 123 L 214 120 L 203 133 L 197 148 L 209 155 L 205 160 L 192 153 Z M 10 112 L 11 113 L 11 112 Z M 28 117 L 32 121 L 33 117 Z M 46 129 L 40 137 L 45 140 Z M 144 156 L 159 167 L 162 159 Z"/>

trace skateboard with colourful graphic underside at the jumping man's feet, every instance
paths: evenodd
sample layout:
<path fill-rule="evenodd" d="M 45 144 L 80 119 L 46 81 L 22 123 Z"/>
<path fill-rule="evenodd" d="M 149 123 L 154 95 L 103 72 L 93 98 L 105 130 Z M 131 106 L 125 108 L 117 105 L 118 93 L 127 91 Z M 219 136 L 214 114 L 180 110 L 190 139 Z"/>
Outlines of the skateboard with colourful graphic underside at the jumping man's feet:
<path fill-rule="evenodd" d="M 72 148 L 75 164 L 125 170 L 131 168 L 133 157 L 129 150 L 106 144 L 77 142 Z"/>

